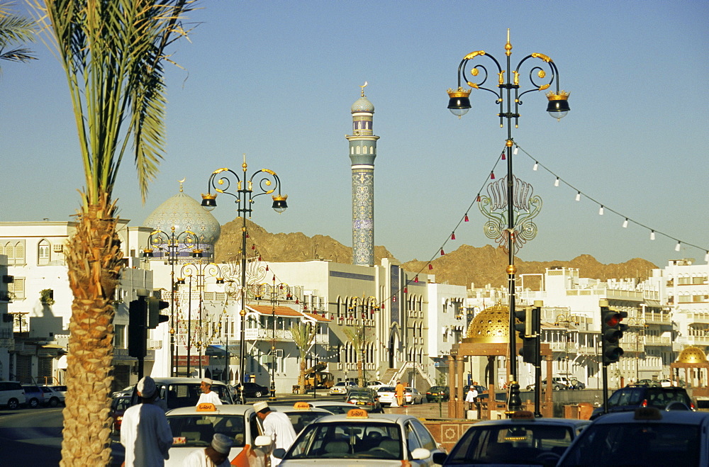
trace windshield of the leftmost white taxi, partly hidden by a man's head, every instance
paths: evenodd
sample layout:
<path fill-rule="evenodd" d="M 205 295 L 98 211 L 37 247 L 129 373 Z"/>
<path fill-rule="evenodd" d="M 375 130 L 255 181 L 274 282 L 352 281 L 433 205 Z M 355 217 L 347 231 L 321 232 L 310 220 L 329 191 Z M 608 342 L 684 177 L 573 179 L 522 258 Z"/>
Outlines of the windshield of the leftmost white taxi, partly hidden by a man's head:
<path fill-rule="evenodd" d="M 172 415 L 167 417 L 172 431 L 172 447 L 206 447 L 215 433 L 230 437 L 233 447 L 245 443 L 243 415 Z"/>

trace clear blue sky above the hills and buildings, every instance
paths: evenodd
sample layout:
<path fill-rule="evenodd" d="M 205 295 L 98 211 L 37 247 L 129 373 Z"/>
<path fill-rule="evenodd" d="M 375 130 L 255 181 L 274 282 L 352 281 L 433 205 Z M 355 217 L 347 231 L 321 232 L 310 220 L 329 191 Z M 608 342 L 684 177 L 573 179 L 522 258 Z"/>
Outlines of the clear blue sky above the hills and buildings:
<path fill-rule="evenodd" d="M 709 2 L 707 1 L 203 1 L 199 26 L 168 67 L 167 155 L 140 203 L 135 169 L 121 167 L 115 195 L 133 225 L 177 193 L 200 199 L 209 174 L 279 174 L 289 209 L 257 198 L 252 220 L 270 232 L 330 235 L 351 245 L 350 106 L 359 86 L 376 108 L 375 243 L 399 260 L 430 259 L 462 218 L 506 139 L 493 96 L 471 95 L 462 119 L 447 110 L 464 55 L 513 63 L 552 57 L 571 112 L 560 122 L 542 93 L 527 94 L 515 142 L 564 181 L 639 223 L 709 248 Z M 79 204 L 82 169 L 65 75 L 45 45 L 40 60 L 1 64 L 0 220 L 67 220 Z M 544 207 L 539 232 L 518 256 L 604 263 L 668 259 L 686 248 L 532 171 L 521 152 L 515 175 Z M 503 175 L 498 166 L 496 176 Z M 235 218 L 225 198 L 213 214 Z M 490 244 L 477 208 L 446 251 Z M 583 272 L 583 271 L 581 271 Z"/>

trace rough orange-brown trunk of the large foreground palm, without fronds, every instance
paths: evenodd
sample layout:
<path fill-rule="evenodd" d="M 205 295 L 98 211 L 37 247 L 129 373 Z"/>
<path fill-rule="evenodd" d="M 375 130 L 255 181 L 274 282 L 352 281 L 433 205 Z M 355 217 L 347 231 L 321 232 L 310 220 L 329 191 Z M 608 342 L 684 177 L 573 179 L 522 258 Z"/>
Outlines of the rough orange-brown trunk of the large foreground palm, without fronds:
<path fill-rule="evenodd" d="M 78 214 L 67 266 L 74 293 L 69 322 L 67 398 L 61 466 L 111 463 L 113 294 L 121 270 L 115 204 L 104 193 L 98 206 Z"/>

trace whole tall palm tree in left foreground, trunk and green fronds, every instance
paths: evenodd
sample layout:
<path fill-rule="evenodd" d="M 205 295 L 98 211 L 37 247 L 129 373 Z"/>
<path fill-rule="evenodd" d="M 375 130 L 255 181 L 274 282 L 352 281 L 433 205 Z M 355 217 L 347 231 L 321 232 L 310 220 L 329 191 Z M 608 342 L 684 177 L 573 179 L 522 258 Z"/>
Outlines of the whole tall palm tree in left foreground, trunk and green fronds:
<path fill-rule="evenodd" d="M 132 153 L 145 201 L 164 152 L 165 48 L 185 36 L 190 0 L 32 0 L 62 63 L 86 186 L 68 244 L 67 407 L 62 466 L 111 463 L 113 295 L 121 272 L 113 186 Z"/>

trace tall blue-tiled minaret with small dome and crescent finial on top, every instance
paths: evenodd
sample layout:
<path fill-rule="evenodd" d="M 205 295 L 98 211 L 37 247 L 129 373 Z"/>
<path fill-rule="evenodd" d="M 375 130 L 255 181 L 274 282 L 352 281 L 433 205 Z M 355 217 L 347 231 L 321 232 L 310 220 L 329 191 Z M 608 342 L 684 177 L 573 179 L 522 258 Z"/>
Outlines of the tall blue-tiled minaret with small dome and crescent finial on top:
<path fill-rule="evenodd" d="M 364 81 L 367 86 L 367 81 Z M 374 266 L 374 158 L 376 140 L 372 133 L 374 106 L 366 96 L 352 104 L 352 264 Z"/>

